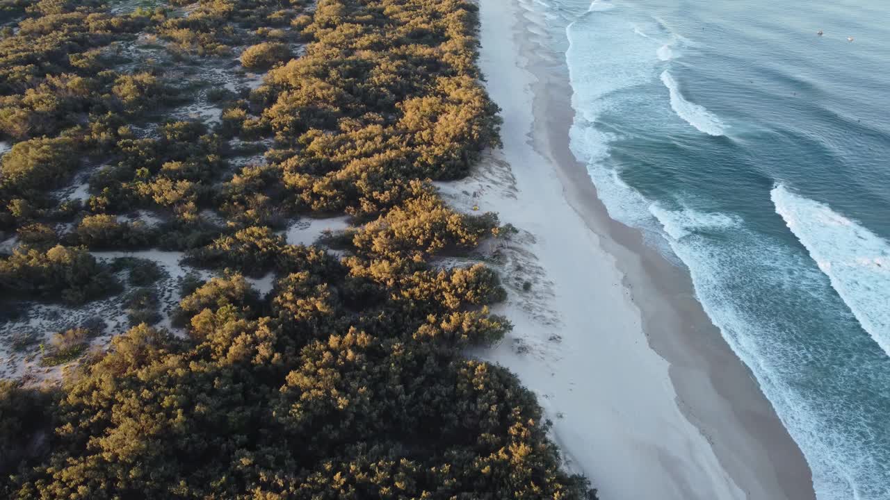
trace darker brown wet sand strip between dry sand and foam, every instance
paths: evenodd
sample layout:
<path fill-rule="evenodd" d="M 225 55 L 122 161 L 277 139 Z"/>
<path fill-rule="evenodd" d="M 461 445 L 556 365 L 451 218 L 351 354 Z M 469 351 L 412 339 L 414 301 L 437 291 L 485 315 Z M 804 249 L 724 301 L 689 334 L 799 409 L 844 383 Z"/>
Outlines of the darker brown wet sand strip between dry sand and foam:
<path fill-rule="evenodd" d="M 546 97 L 551 102 L 542 108 L 554 109 L 563 104 L 552 96 Z M 768 479 L 781 488 L 785 498 L 815 498 L 803 453 L 750 369 L 725 342 L 695 298 L 689 271 L 667 262 L 657 249 L 646 245 L 639 230 L 609 217 L 596 197 L 585 166 L 569 149 L 571 122 L 563 120 L 560 125 L 564 133 L 559 133 L 560 127 L 546 128 L 551 140 L 565 143 L 550 152 L 556 157 L 554 165 L 566 188 L 567 200 L 590 230 L 603 237 L 603 250 L 616 257 L 616 264 L 625 275 L 624 285 L 632 290 L 632 300 L 641 304 L 664 302 L 641 307 L 643 332 L 651 349 L 670 364 L 680 410 L 708 439 L 721 464 L 740 486 L 765 488 L 762 483 Z M 720 401 L 719 405 L 713 404 L 715 399 Z M 728 425 L 735 429 L 724 432 L 721 427 L 726 422 L 732 422 Z M 740 451 L 743 448 L 749 449 Z M 757 460 L 758 456 L 766 456 L 768 463 Z M 778 464 L 785 469 L 781 475 L 775 473 Z M 767 497 L 745 489 L 750 498 Z"/>

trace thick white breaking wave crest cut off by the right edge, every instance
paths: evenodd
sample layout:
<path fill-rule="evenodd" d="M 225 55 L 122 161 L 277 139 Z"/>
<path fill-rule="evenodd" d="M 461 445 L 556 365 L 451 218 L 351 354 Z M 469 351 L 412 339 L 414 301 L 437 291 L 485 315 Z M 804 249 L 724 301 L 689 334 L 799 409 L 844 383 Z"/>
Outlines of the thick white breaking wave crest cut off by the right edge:
<path fill-rule="evenodd" d="M 781 184 L 771 194 L 776 213 L 829 277 L 862 328 L 890 355 L 890 243 Z"/>

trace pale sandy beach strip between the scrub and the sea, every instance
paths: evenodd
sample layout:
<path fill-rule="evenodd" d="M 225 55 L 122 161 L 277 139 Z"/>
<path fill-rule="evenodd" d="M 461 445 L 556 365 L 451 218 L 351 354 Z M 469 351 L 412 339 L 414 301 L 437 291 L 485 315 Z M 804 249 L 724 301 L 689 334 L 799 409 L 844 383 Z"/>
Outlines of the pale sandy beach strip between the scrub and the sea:
<path fill-rule="evenodd" d="M 559 54 L 516 0 L 481 1 L 481 68 L 503 149 L 441 186 L 518 234 L 498 249 L 514 331 L 473 355 L 519 375 L 573 472 L 611 499 L 809 499 L 811 474 L 688 273 L 609 219 L 572 156 Z M 530 31 L 531 30 L 531 31 Z"/>

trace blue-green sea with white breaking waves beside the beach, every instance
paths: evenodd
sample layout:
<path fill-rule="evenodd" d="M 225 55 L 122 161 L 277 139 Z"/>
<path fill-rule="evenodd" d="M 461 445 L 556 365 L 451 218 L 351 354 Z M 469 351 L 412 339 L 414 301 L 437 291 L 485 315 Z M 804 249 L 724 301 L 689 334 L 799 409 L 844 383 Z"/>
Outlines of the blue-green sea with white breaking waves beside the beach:
<path fill-rule="evenodd" d="M 817 496 L 890 498 L 890 2 L 527 8 L 611 216 L 688 267 Z"/>

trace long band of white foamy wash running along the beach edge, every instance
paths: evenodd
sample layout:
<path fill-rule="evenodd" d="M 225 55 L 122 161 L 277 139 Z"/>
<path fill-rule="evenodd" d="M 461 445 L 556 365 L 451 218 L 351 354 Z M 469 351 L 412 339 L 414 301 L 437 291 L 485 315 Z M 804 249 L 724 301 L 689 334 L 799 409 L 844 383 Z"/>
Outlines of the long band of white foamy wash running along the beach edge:
<path fill-rule="evenodd" d="M 645 12 L 617 4 L 611 12 L 587 12 L 566 29 L 566 60 L 576 111 L 571 149 L 587 164 L 611 217 L 641 228 L 647 237 L 662 235 L 646 240 L 659 248 L 669 246 L 662 253 L 689 268 L 695 294 L 708 316 L 756 375 L 805 453 L 818 498 L 888 498 L 862 494 L 862 485 L 867 484 L 873 491 L 886 490 L 877 484 L 881 481 L 870 479 L 882 477 L 872 473 L 881 470 L 882 464 L 863 453 L 867 444 L 862 433 L 870 431 L 869 425 L 835 424 L 838 415 L 833 407 L 843 401 L 813 398 L 806 393 L 810 389 L 802 387 L 801 378 L 789 376 L 813 360 L 813 352 L 806 351 L 800 338 L 812 336 L 828 318 L 846 315 L 853 320 L 844 304 L 831 295 L 824 276 L 808 265 L 804 253 L 748 229 L 739 217 L 652 206 L 643 193 L 621 180 L 608 159 L 611 144 L 620 139 L 618 131 L 623 128 L 602 123 L 602 118 L 638 112 L 640 97 L 659 88 L 656 78 L 667 66 L 668 56 L 676 57 L 675 49 L 696 46 L 663 21 L 651 20 Z M 704 133 L 724 134 L 720 119 L 686 101 L 669 73 L 661 74 L 661 83 L 671 91 L 671 109 L 667 105 L 659 109 L 665 124 L 676 123 L 676 113 L 697 129 L 704 128 Z M 637 88 L 642 92 L 635 92 Z M 817 294 L 824 296 L 814 308 L 813 295 Z M 820 310 L 827 312 L 820 316 Z M 837 391 L 849 387 L 841 379 L 831 383 Z"/>

